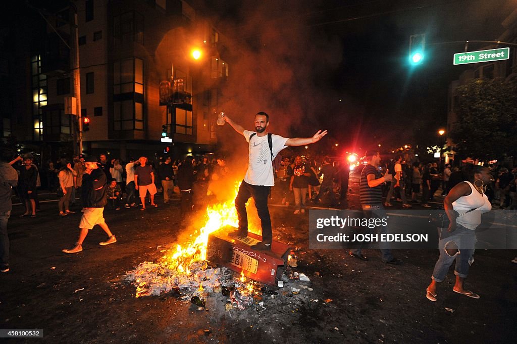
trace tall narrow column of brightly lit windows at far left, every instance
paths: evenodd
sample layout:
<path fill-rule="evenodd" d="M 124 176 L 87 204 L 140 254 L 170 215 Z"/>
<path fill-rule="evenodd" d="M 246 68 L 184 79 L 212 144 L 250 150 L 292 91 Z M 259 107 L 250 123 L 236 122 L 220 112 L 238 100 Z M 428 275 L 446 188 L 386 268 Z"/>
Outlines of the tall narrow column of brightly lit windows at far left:
<path fill-rule="evenodd" d="M 43 117 L 41 107 L 47 105 L 47 76 L 41 73 L 41 55 L 31 59 L 33 92 L 33 140 L 43 140 Z"/>

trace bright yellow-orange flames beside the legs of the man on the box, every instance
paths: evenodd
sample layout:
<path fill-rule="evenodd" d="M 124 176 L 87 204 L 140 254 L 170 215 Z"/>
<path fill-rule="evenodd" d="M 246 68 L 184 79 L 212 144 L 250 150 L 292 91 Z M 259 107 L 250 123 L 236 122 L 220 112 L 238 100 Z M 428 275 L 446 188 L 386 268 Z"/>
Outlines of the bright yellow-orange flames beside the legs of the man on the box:
<path fill-rule="evenodd" d="M 176 270 L 180 275 L 189 276 L 192 272 L 189 266 L 194 263 L 205 262 L 206 247 L 208 243 L 208 235 L 217 231 L 224 226 L 238 227 L 237 211 L 235 210 L 234 200 L 239 191 L 240 182 L 235 183 L 234 196 L 224 203 L 218 203 L 206 208 L 207 222 L 200 229 L 199 235 L 195 237 L 193 242 L 185 247 L 176 246 L 176 250 L 172 255 L 163 257 L 169 268 Z M 206 263 L 205 263 L 206 264 Z"/>

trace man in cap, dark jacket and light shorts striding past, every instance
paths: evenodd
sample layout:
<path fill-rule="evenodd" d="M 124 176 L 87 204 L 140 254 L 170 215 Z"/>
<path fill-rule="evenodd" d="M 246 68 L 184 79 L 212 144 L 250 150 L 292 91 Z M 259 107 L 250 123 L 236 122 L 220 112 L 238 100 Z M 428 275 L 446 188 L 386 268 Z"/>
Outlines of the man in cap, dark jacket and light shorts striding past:
<path fill-rule="evenodd" d="M 108 184 L 106 174 L 99 168 L 97 157 L 89 156 L 84 163 L 85 172 L 82 180 L 81 201 L 84 206 L 84 213 L 79 223 L 79 239 L 75 243 L 74 248 L 64 249 L 65 253 L 78 253 L 83 250 L 83 241 L 88 235 L 88 231 L 99 225 L 106 234 L 108 240 L 99 245 L 110 245 L 117 242 L 115 235 L 113 235 L 104 221 L 104 206 L 108 203 Z"/>

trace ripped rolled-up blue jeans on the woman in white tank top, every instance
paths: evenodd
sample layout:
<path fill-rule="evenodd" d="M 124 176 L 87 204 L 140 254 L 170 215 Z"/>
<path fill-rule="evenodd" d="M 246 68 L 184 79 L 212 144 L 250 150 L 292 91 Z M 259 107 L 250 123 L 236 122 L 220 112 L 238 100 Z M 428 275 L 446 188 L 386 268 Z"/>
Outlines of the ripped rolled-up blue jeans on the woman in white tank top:
<path fill-rule="evenodd" d="M 456 230 L 449 233 L 447 228 L 439 229 L 440 241 L 438 247 L 440 250 L 440 258 L 434 265 L 433 276 L 436 282 L 442 282 L 447 276 L 449 267 L 456 260 L 454 267 L 454 275 L 466 278 L 470 264 L 474 261 L 474 245 L 476 243 L 476 233 L 473 230 L 465 228 L 459 224 Z M 449 252 L 447 252 L 447 250 Z"/>

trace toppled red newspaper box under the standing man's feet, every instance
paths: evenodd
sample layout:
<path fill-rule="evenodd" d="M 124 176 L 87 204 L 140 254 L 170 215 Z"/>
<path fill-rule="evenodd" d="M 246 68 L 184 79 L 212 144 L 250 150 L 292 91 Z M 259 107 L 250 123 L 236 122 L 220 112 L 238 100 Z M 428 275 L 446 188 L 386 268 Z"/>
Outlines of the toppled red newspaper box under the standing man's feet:
<path fill-rule="evenodd" d="M 225 226 L 210 233 L 206 259 L 239 273 L 244 271 L 246 277 L 274 286 L 287 267 L 290 246 L 273 240 L 270 251 L 253 251 L 250 246 L 260 242 L 262 236 L 248 232 L 247 238 L 236 240 L 228 236 L 235 230 L 237 228 Z"/>

